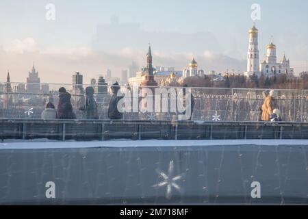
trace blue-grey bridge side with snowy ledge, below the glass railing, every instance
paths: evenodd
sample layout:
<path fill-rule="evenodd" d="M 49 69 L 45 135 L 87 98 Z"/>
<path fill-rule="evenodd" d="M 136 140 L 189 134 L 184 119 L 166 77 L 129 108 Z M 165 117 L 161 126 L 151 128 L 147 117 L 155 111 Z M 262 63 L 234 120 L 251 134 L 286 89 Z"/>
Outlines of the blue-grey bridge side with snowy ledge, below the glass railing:
<path fill-rule="evenodd" d="M 308 123 L 1 119 L 0 138 L 0 204 L 308 203 Z"/>

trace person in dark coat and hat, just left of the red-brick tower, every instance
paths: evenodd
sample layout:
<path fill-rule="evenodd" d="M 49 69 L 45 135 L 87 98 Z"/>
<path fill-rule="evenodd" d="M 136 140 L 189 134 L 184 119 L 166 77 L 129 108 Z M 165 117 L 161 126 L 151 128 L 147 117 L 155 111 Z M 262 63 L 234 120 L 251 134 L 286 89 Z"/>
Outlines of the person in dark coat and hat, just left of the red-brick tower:
<path fill-rule="evenodd" d="M 118 111 L 118 102 L 123 99 L 123 96 L 118 96 L 118 90 L 120 90 L 120 86 L 118 82 L 114 83 L 111 87 L 112 89 L 112 99 L 109 103 L 108 108 L 108 118 L 110 119 L 122 119 L 123 113 Z"/>

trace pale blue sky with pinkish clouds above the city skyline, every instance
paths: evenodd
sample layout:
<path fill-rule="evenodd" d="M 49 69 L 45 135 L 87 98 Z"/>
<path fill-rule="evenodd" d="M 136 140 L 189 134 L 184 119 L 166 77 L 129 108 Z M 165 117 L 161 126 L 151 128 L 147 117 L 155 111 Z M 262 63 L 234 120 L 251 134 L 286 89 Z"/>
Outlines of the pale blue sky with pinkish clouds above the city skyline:
<path fill-rule="evenodd" d="M 182 70 L 195 57 L 205 71 L 244 72 L 253 3 L 260 57 L 273 38 L 279 60 L 285 52 L 296 73 L 307 70 L 308 1 L 1 0 L 0 81 L 10 70 L 11 81 L 24 82 L 33 62 L 48 83 L 70 83 L 77 71 L 88 83 L 107 68 L 119 76 L 133 61 L 146 64 L 149 42 L 156 66 Z"/>

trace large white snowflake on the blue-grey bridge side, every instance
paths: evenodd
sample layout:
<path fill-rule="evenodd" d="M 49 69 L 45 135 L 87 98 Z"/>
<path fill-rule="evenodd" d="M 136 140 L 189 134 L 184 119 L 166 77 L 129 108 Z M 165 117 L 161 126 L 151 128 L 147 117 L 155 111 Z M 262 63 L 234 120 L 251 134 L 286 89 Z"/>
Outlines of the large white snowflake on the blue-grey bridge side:
<path fill-rule="evenodd" d="M 173 170 L 174 166 L 173 166 L 173 160 L 170 162 L 169 164 L 169 168 L 168 168 L 168 174 L 166 174 L 165 172 L 163 172 L 162 170 L 156 170 L 156 172 L 158 173 L 159 177 L 162 177 L 164 179 L 164 181 L 157 183 L 155 185 L 153 185 L 155 188 L 160 188 L 160 187 L 167 187 L 166 190 L 166 198 L 170 199 L 172 196 L 172 187 L 175 188 L 176 190 L 178 190 L 179 192 L 181 192 L 181 188 L 179 187 L 179 185 L 177 185 L 176 181 L 178 181 L 179 179 L 182 179 L 183 175 L 177 175 L 177 176 L 173 176 Z"/>

